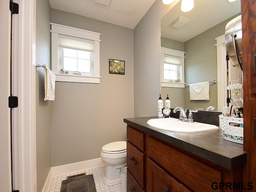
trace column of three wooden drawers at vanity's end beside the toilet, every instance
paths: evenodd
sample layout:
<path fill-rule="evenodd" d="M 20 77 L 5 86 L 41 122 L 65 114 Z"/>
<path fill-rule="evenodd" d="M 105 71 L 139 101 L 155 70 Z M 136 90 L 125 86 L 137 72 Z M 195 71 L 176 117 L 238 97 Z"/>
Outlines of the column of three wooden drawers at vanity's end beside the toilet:
<path fill-rule="evenodd" d="M 127 191 L 144 191 L 145 154 L 144 134 L 127 127 Z"/>

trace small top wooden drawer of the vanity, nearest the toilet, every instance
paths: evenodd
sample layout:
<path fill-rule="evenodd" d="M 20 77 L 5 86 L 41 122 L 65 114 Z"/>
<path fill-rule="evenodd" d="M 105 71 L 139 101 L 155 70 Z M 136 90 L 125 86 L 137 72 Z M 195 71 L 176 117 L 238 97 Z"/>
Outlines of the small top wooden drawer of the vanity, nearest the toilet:
<path fill-rule="evenodd" d="M 144 134 L 127 126 L 127 140 L 144 151 Z"/>

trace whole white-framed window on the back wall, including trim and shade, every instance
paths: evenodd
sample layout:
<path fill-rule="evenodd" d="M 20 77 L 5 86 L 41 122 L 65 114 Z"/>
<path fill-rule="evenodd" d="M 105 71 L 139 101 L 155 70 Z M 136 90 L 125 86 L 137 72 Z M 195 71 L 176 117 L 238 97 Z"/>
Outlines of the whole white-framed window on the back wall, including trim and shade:
<path fill-rule="evenodd" d="M 56 81 L 100 83 L 100 34 L 51 25 L 52 71 Z"/>

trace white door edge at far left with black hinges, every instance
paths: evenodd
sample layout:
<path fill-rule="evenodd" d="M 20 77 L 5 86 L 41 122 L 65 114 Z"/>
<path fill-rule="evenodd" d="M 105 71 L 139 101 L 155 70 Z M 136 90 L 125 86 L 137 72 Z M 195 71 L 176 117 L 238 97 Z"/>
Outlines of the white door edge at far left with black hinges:
<path fill-rule="evenodd" d="M 0 186 L 1 191 L 11 192 L 10 156 L 10 26 L 9 0 L 0 0 Z"/>

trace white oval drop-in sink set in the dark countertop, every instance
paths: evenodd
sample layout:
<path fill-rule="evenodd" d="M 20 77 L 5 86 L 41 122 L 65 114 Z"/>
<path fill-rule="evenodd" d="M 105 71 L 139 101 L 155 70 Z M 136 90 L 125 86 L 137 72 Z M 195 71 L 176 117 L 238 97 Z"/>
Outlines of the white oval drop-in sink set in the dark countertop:
<path fill-rule="evenodd" d="M 207 130 L 218 129 L 217 126 L 205 123 L 189 123 L 182 122 L 176 118 L 157 118 L 148 120 L 147 124 L 154 128 L 174 131 L 174 132 L 185 132 L 185 133 L 195 133 Z"/>

